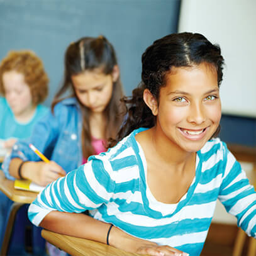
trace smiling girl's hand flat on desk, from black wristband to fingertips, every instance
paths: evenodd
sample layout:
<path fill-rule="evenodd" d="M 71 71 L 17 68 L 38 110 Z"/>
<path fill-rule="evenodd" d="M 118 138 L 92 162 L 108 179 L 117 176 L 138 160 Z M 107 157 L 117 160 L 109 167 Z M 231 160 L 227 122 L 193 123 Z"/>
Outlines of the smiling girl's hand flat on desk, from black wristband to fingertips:
<path fill-rule="evenodd" d="M 120 248 L 127 252 L 136 252 L 153 256 L 187 256 L 187 253 L 181 252 L 168 245 L 157 245 L 157 243 L 143 240 L 128 235 L 116 226 L 113 226 L 109 233 L 109 245 Z"/>

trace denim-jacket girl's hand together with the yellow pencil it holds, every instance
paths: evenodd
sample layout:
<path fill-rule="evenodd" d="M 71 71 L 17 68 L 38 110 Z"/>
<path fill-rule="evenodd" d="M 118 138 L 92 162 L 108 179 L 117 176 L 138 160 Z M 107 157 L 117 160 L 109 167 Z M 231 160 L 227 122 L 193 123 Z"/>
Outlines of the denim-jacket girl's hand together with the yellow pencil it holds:
<path fill-rule="evenodd" d="M 38 172 L 35 172 L 35 175 L 33 175 L 37 184 L 46 186 L 57 180 L 59 177 L 65 176 L 66 173 L 60 165 L 47 159 L 47 157 L 45 157 L 45 155 L 43 155 L 43 153 L 41 153 L 34 145 L 30 144 L 30 148 L 43 160 L 43 162 L 36 162 L 37 166 L 40 166 L 39 169 L 36 168 Z"/>

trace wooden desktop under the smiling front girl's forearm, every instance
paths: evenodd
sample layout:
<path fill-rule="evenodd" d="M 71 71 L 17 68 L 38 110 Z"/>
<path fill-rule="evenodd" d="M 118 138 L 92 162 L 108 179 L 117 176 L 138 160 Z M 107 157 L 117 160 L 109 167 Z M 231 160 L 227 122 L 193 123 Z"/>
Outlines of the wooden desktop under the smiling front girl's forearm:
<path fill-rule="evenodd" d="M 72 256 L 142 256 L 140 253 L 125 252 L 104 243 L 60 235 L 48 230 L 42 230 L 42 237 Z"/>

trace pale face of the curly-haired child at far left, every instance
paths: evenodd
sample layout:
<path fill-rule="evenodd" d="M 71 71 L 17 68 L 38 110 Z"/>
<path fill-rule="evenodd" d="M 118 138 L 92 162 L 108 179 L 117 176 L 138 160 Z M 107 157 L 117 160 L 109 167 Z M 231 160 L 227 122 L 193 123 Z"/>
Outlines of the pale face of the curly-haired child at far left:
<path fill-rule="evenodd" d="M 15 116 L 26 113 L 33 108 L 30 87 L 23 74 L 14 70 L 4 72 L 3 86 L 6 101 Z"/>

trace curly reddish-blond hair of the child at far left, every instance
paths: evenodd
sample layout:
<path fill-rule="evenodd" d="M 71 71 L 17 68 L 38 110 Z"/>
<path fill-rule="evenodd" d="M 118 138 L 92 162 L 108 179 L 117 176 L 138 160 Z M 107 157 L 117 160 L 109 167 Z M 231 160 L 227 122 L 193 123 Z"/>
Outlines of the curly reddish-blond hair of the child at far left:
<path fill-rule="evenodd" d="M 33 104 L 42 103 L 48 96 L 49 82 L 42 60 L 30 50 L 9 51 L 0 64 L 0 94 L 3 96 L 3 74 L 12 70 L 24 75 Z"/>

